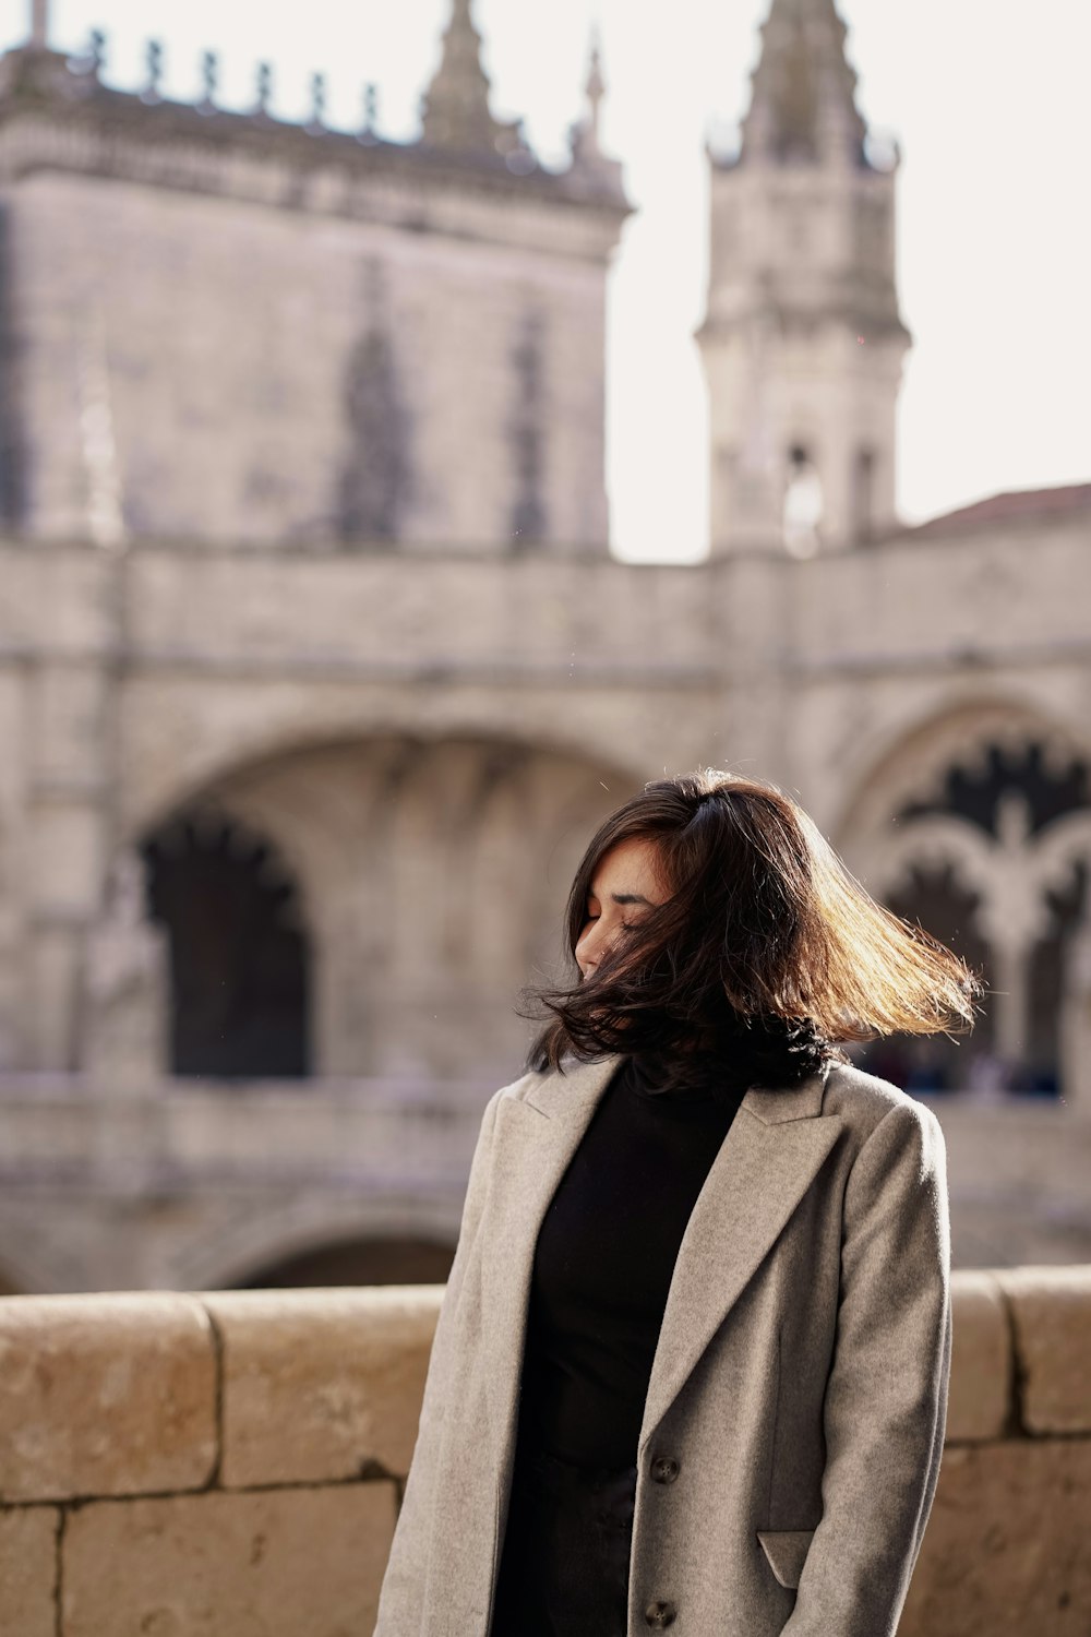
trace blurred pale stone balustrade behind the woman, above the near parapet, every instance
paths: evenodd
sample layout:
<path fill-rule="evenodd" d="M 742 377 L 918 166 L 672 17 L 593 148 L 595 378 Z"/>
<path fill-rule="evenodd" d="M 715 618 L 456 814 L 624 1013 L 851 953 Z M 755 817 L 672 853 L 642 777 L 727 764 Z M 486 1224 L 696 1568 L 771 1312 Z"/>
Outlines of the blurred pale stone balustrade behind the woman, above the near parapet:
<path fill-rule="evenodd" d="M 0 1290 L 254 1285 L 321 1246 L 453 1246 L 481 1087 L 0 1074 Z M 959 1267 L 1091 1262 L 1084 1112 L 1029 1097 L 929 1107 Z"/>

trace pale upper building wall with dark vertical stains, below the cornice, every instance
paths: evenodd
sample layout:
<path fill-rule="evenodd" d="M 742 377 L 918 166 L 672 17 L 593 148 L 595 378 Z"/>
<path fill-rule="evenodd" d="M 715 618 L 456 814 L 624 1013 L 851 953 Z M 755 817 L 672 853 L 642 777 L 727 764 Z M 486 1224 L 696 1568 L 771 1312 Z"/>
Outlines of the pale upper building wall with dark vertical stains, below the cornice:
<path fill-rule="evenodd" d="M 497 244 L 407 192 L 412 226 L 10 183 L 28 530 L 87 532 L 93 391 L 134 539 L 605 548 L 607 244 L 582 208 L 494 205 Z"/>

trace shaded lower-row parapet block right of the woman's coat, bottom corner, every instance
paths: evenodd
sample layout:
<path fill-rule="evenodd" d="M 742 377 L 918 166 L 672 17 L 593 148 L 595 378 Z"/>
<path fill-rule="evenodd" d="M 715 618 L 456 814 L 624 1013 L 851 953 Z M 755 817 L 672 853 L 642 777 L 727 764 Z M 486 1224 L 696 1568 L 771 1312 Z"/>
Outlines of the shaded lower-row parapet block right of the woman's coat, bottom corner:
<path fill-rule="evenodd" d="M 949 1449 L 898 1637 L 1086 1637 L 1091 1441 Z"/>

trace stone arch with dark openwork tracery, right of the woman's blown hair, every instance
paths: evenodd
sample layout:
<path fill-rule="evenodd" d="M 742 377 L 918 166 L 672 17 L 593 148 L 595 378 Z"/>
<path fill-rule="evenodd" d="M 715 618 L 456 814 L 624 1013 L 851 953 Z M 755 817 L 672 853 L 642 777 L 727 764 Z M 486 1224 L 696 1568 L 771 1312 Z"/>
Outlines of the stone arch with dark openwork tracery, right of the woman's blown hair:
<path fill-rule="evenodd" d="M 1086 1074 L 1091 1026 L 1091 746 L 998 701 L 905 735 L 857 792 L 842 837 L 870 889 L 986 979 L 968 1051 L 908 1051 L 909 1089 L 967 1079 L 1057 1092 Z"/>

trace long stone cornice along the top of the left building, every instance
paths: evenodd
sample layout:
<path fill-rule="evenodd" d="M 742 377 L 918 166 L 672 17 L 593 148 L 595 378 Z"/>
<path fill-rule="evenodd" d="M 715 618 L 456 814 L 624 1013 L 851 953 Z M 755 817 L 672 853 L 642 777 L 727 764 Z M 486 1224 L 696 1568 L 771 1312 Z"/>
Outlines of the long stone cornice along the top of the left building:
<path fill-rule="evenodd" d="M 617 182 L 594 167 L 553 172 L 533 162 L 515 175 L 499 154 L 147 101 L 57 69 L 54 54 L 46 56 L 51 74 L 41 64 L 33 79 L 15 72 L 13 59 L 29 56 L 0 59 L 0 183 L 61 170 L 417 231 L 458 231 L 461 223 L 463 236 L 592 259 L 610 252 L 630 213 Z M 527 231 L 535 219 L 537 231 Z"/>

